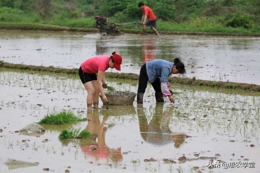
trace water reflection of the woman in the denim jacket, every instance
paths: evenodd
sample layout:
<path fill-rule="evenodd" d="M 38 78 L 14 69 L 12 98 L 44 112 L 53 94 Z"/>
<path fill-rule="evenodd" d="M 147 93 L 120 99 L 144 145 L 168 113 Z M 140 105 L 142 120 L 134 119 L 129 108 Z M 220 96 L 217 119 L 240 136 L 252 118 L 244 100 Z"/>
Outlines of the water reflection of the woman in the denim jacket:
<path fill-rule="evenodd" d="M 165 145 L 174 142 L 174 147 L 179 148 L 184 143 L 186 134 L 173 133 L 169 128 L 170 115 L 174 107 L 168 108 L 163 112 L 163 103 L 156 103 L 155 112 L 150 123 L 147 123 L 147 118 L 142 105 L 138 104 L 138 119 L 141 137 L 148 143 Z"/>

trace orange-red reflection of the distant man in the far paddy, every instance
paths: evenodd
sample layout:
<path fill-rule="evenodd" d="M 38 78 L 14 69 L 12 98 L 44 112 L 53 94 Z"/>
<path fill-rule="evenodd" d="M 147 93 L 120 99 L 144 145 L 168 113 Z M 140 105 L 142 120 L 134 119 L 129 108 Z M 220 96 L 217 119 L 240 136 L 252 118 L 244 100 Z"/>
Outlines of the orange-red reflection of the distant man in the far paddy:
<path fill-rule="evenodd" d="M 156 48 L 155 39 L 142 40 L 142 52 L 143 52 L 144 62 L 148 62 L 154 59 L 156 53 L 155 48 Z"/>

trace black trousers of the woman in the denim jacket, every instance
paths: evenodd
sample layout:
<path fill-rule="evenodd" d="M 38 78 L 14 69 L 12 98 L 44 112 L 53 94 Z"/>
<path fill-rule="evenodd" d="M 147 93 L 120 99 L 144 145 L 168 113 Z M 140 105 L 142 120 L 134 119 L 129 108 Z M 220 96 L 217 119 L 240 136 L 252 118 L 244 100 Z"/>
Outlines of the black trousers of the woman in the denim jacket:
<path fill-rule="evenodd" d="M 145 93 L 145 89 L 147 87 L 148 76 L 146 72 L 146 63 L 141 67 L 140 75 L 139 75 L 139 84 L 137 92 Z M 161 92 L 161 81 L 157 77 L 153 83 L 151 83 L 155 92 Z"/>

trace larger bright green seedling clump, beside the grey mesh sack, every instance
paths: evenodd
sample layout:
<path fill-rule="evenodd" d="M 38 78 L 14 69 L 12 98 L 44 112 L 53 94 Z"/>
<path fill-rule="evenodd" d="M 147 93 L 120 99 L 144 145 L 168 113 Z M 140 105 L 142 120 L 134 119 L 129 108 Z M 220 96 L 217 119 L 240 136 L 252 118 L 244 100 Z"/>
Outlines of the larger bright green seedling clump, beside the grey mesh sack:
<path fill-rule="evenodd" d="M 63 110 L 59 113 L 52 113 L 45 115 L 38 124 L 66 124 L 66 123 L 76 123 L 85 121 L 81 116 L 76 116 L 70 110 Z"/>

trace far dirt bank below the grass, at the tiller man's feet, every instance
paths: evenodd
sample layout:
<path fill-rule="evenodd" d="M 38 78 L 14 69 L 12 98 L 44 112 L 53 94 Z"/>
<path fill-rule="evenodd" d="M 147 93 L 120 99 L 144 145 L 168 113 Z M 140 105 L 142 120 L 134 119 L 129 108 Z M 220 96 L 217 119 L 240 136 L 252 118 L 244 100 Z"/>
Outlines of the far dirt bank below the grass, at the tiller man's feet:
<path fill-rule="evenodd" d="M 69 28 L 66 26 L 47 25 L 47 24 L 19 24 L 19 23 L 1 23 L 0 29 L 6 30 L 43 30 L 43 31 L 69 31 L 69 32 L 93 32 L 98 33 L 96 28 Z M 140 34 L 141 30 L 120 29 L 123 33 Z M 147 31 L 148 34 L 154 34 L 153 31 Z M 168 35 L 209 35 L 209 36 L 249 36 L 260 37 L 260 34 L 224 34 L 212 32 L 177 32 L 177 31 L 161 31 L 160 34 Z"/>

